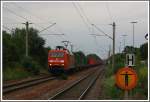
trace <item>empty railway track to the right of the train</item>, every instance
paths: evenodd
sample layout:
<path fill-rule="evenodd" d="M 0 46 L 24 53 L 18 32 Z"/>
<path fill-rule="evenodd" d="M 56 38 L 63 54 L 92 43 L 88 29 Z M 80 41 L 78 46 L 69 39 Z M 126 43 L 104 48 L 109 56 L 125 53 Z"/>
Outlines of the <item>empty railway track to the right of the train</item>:
<path fill-rule="evenodd" d="M 70 86 L 60 90 L 51 96 L 48 100 L 81 100 L 84 99 L 90 88 L 94 85 L 97 78 L 103 75 L 104 70 L 98 69 L 95 73 L 88 74 L 81 79 L 75 81 Z"/>

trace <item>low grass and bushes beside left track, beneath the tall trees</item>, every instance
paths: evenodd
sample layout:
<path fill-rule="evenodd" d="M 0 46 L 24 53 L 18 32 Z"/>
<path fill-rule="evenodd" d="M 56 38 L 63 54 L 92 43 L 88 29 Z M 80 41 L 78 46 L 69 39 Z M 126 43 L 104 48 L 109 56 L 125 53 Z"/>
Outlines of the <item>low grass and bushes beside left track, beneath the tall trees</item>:
<path fill-rule="evenodd" d="M 48 73 L 46 68 L 42 68 L 32 59 L 24 59 L 22 63 L 11 63 L 3 69 L 3 80 L 18 80 L 33 77 L 40 73 Z"/>

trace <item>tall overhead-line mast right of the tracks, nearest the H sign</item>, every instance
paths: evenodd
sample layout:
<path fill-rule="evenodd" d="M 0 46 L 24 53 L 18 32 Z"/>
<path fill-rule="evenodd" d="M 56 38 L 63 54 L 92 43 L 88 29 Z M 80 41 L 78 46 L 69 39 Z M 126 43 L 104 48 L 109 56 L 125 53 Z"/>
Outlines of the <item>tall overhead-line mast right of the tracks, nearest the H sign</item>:
<path fill-rule="evenodd" d="M 113 56 L 112 56 L 112 68 L 114 69 L 115 67 L 115 22 L 113 22 Z"/>

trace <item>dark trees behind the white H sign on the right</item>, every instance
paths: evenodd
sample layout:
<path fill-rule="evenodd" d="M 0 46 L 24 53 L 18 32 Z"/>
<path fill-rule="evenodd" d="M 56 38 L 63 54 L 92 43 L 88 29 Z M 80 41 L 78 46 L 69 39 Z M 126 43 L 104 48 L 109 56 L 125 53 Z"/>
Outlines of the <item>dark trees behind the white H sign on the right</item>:
<path fill-rule="evenodd" d="M 126 53 L 134 53 L 135 54 L 135 64 L 139 65 L 141 62 L 148 64 L 148 43 L 142 44 L 139 48 L 126 46 L 122 53 L 115 54 L 115 67 L 113 71 L 116 72 L 119 68 L 125 66 Z M 109 64 L 112 64 L 112 56 L 108 59 Z"/>

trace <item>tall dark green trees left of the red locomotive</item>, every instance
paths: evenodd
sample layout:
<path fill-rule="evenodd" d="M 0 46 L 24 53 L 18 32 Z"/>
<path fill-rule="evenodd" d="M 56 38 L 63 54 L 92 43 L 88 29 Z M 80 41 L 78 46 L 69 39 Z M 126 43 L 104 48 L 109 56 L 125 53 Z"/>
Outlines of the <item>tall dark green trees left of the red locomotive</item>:
<path fill-rule="evenodd" d="M 27 70 L 35 70 L 37 68 L 46 68 L 48 49 L 45 48 L 45 41 L 38 36 L 38 31 L 30 28 L 28 36 L 28 54 L 25 56 L 25 29 L 16 28 L 12 33 L 3 31 L 3 69 L 14 67 L 26 67 Z M 31 68 L 32 67 L 32 68 Z M 33 70 L 32 70 L 33 69 Z"/>

